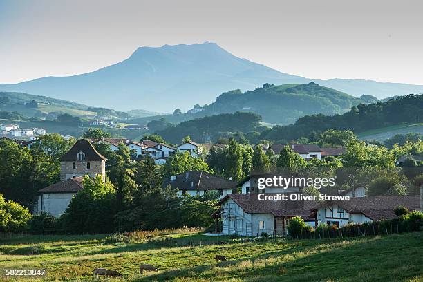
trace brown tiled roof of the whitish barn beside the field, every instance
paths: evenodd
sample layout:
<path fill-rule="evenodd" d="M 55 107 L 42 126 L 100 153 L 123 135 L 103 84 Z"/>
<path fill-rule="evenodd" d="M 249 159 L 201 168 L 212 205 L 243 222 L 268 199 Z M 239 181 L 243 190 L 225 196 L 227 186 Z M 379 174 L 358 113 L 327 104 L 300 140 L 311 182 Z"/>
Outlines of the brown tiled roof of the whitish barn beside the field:
<path fill-rule="evenodd" d="M 290 193 L 287 193 L 289 195 Z M 312 212 L 310 210 L 316 207 L 317 202 L 304 200 L 259 200 L 259 194 L 227 194 L 220 200 L 218 205 L 222 205 L 228 198 L 240 206 L 248 214 L 273 214 L 274 216 L 301 216 L 308 218 Z M 276 195 L 266 193 L 265 195 Z M 289 198 L 289 196 L 288 196 Z"/>

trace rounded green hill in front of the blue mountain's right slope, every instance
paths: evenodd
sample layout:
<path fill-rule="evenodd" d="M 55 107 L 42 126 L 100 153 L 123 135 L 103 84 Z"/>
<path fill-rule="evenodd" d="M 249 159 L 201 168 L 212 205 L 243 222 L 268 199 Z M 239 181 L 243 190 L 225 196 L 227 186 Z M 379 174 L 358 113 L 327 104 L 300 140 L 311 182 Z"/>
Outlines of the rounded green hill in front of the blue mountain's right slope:
<path fill-rule="evenodd" d="M 304 115 L 345 113 L 364 101 L 335 89 L 310 84 L 265 84 L 254 91 L 229 91 L 216 102 L 203 107 L 201 115 L 250 111 L 262 116 L 263 122 L 292 124 Z"/>

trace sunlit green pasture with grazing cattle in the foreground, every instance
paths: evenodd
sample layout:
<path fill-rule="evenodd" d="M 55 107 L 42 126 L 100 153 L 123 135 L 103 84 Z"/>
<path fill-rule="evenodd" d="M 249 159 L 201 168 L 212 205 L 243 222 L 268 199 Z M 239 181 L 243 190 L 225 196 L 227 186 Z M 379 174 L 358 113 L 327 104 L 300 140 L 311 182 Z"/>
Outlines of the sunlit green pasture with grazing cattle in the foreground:
<path fill-rule="evenodd" d="M 171 236 L 176 241 L 222 240 Z M 25 255 L 34 248 L 39 254 Z M 423 281 L 422 251 L 422 232 L 197 247 L 109 245 L 104 236 L 25 236 L 0 239 L 0 268 L 45 268 L 47 276 L 37 279 L 45 281 L 95 281 L 95 267 L 118 270 L 127 281 Z M 216 264 L 216 254 L 228 261 Z M 141 263 L 156 265 L 159 272 L 140 276 Z"/>

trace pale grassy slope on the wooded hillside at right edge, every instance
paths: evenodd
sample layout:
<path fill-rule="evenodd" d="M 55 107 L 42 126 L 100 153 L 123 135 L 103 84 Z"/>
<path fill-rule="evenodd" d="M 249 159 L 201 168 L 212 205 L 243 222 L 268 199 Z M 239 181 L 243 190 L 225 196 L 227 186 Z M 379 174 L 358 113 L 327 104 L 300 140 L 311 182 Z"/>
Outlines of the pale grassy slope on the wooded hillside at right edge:
<path fill-rule="evenodd" d="M 382 127 L 357 133 L 357 137 L 361 140 L 377 140 L 382 142 L 396 134 L 406 134 L 410 132 L 423 133 L 423 123 Z"/>

